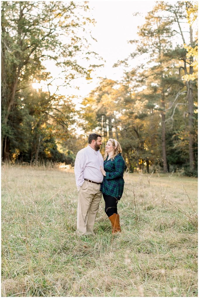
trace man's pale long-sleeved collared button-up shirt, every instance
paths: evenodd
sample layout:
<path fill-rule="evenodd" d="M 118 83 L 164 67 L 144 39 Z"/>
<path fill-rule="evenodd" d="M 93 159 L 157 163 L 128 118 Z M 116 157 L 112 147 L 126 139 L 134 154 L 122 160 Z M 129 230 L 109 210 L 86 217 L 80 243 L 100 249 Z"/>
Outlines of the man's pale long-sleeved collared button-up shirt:
<path fill-rule="evenodd" d="M 104 176 L 100 166 L 104 169 L 104 160 L 100 151 L 95 151 L 89 145 L 80 150 L 75 159 L 75 179 L 77 187 L 82 186 L 84 179 L 101 183 Z"/>

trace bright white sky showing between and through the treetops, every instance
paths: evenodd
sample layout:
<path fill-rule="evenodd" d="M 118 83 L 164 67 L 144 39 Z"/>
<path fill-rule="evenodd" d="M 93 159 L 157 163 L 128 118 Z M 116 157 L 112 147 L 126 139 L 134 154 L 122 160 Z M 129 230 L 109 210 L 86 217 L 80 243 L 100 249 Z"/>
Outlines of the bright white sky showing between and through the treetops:
<path fill-rule="evenodd" d="M 176 1 L 168 1 L 174 4 Z M 91 40 L 90 50 L 99 54 L 106 62 L 104 67 L 97 68 L 91 74 L 92 81 L 87 81 L 83 78 L 75 79 L 72 88 L 60 88 L 60 94 L 77 95 L 74 99 L 76 108 L 80 107 L 82 98 L 87 96 L 93 90 L 98 82 L 98 77 L 107 77 L 112 80 L 120 80 L 123 76 L 121 67 L 113 68 L 113 64 L 118 60 L 123 60 L 129 56 L 134 50 L 134 46 L 128 44 L 129 40 L 137 39 L 137 27 L 144 24 L 145 15 L 153 8 L 155 1 L 90 1 L 90 18 L 96 21 L 95 26 L 90 25 L 92 36 L 97 39 L 97 42 Z M 139 16 L 134 16 L 133 13 L 139 12 Z M 143 58 L 137 58 L 131 61 L 131 66 L 136 66 L 137 63 L 144 62 Z M 91 60 L 90 64 L 101 64 L 102 61 Z M 59 69 L 54 66 L 54 62 L 48 61 L 45 63 L 47 71 L 51 72 L 54 77 L 59 75 Z M 79 87 L 79 90 L 75 89 Z M 38 84 L 34 88 L 38 88 Z M 51 91 L 55 86 L 51 86 Z M 45 87 L 42 86 L 45 91 Z"/>

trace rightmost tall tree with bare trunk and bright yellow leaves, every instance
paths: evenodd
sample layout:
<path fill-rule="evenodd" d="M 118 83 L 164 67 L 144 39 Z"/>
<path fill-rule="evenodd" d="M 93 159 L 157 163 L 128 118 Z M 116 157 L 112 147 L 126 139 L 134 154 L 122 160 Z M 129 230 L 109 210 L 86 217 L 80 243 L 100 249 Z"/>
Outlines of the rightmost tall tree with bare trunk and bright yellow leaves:
<path fill-rule="evenodd" d="M 193 172 L 195 169 L 195 156 L 194 156 L 194 85 L 195 85 L 195 72 L 194 66 L 197 65 L 196 60 L 194 61 L 194 51 L 197 51 L 197 39 L 193 39 L 193 23 L 197 19 L 198 13 L 198 4 L 197 2 L 190 1 L 178 1 L 175 5 L 168 3 L 159 3 L 156 6 L 156 11 L 165 11 L 168 12 L 173 18 L 170 18 L 171 24 L 176 25 L 178 30 L 174 30 L 175 34 L 181 36 L 182 43 L 185 49 L 188 49 L 188 55 L 186 55 L 185 50 L 181 50 L 181 47 L 178 46 L 176 52 L 181 53 L 179 60 L 181 60 L 181 65 L 179 67 L 179 72 L 181 77 L 185 81 L 185 86 L 187 89 L 187 103 L 188 103 L 188 139 L 189 139 L 189 170 Z M 189 41 L 186 42 L 182 24 L 183 22 L 188 23 L 189 30 Z M 173 57 L 172 51 L 170 57 Z"/>

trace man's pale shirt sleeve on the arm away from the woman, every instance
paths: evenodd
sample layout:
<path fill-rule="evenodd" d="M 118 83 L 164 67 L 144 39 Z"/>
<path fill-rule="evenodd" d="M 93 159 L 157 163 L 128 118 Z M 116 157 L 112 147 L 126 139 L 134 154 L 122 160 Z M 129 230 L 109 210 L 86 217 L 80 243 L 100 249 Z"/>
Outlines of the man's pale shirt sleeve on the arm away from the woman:
<path fill-rule="evenodd" d="M 84 169 L 86 166 L 85 156 L 83 153 L 77 153 L 76 159 L 75 159 L 75 166 L 74 166 L 74 172 L 75 172 L 75 180 L 77 187 L 81 187 L 84 183 Z"/>

